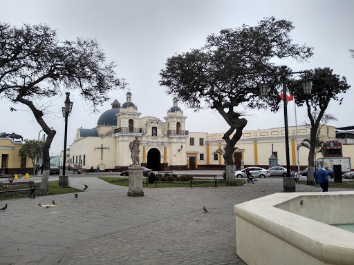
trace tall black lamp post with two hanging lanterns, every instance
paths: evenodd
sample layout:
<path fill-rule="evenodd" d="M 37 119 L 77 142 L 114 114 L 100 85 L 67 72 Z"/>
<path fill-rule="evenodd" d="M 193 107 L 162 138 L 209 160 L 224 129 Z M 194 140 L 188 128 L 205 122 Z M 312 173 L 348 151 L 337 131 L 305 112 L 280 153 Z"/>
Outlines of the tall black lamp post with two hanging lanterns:
<path fill-rule="evenodd" d="M 290 155 L 289 155 L 289 132 L 288 132 L 288 108 L 287 108 L 287 99 L 286 99 L 286 77 L 288 75 L 294 74 L 305 74 L 306 72 L 288 72 L 286 70 L 287 66 L 281 66 L 281 71 L 277 74 L 272 75 L 281 75 L 283 81 L 283 103 L 284 103 L 284 124 L 285 124 L 285 149 L 286 149 L 286 177 L 290 177 Z M 304 81 L 302 83 L 302 88 L 304 94 L 310 94 L 313 82 L 311 80 Z M 261 96 L 268 95 L 268 84 L 261 83 L 259 84 L 259 90 Z"/>

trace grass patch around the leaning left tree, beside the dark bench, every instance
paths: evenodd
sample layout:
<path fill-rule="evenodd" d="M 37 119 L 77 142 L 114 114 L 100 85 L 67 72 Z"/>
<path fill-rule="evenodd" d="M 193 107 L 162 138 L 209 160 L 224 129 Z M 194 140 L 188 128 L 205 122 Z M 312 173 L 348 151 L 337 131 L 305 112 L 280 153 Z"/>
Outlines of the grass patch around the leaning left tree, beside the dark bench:
<path fill-rule="evenodd" d="M 77 193 L 79 190 L 75 190 L 74 188 L 59 188 L 58 187 L 59 181 L 49 181 L 48 182 L 48 195 L 57 195 L 57 194 L 64 194 L 64 193 Z M 40 183 L 35 183 L 36 197 L 39 196 L 39 187 Z M 6 188 L 2 188 L 1 190 L 10 190 L 14 189 L 17 190 L 19 188 L 29 188 L 30 185 L 14 185 L 14 186 L 7 186 Z M 0 193 L 0 201 L 5 199 L 19 199 L 19 198 L 27 198 L 30 196 L 30 190 L 26 191 L 17 191 L 13 193 Z"/>

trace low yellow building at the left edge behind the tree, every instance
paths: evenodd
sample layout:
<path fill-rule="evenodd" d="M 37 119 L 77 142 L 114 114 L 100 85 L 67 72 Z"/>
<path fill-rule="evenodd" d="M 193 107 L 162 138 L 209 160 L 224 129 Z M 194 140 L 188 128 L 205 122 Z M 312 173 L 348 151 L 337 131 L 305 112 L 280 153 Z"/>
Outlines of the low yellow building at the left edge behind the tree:
<path fill-rule="evenodd" d="M 0 156 L 2 174 L 26 174 L 32 173 L 32 161 L 21 159 L 19 150 L 22 146 L 20 135 L 2 133 L 0 135 Z"/>

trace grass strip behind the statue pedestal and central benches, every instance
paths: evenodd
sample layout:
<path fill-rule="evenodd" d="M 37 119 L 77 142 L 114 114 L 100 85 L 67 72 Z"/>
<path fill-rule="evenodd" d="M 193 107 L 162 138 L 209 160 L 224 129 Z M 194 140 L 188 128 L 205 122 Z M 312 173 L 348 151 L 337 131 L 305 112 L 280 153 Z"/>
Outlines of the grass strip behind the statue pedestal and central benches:
<path fill-rule="evenodd" d="M 129 178 L 127 177 L 100 177 L 100 179 L 107 181 L 111 184 L 126 186 L 129 187 Z M 196 179 L 196 180 L 211 180 L 211 179 Z M 148 184 L 146 177 L 142 179 L 144 188 L 155 188 L 155 184 Z M 236 179 L 236 186 L 243 186 L 245 181 L 243 179 Z M 218 186 L 225 186 L 224 179 L 218 179 Z M 189 181 L 164 181 L 157 183 L 156 188 L 176 188 L 176 187 L 185 187 L 188 188 L 190 186 Z M 214 181 L 205 181 L 205 182 L 196 182 L 193 184 L 193 187 L 214 187 Z"/>

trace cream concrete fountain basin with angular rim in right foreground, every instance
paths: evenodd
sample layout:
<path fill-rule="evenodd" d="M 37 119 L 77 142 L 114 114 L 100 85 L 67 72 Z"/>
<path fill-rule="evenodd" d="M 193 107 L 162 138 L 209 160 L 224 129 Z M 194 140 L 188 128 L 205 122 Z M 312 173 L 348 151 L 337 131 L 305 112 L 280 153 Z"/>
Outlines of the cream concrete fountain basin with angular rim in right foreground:
<path fill-rule="evenodd" d="M 236 253 L 252 264 L 354 264 L 354 192 L 275 193 L 234 206 Z"/>

